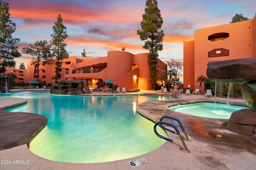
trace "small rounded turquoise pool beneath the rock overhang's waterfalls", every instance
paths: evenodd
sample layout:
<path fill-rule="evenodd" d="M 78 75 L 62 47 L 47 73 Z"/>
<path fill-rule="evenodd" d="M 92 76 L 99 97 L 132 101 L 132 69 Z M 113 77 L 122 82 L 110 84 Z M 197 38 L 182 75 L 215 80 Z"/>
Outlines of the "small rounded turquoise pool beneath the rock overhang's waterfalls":
<path fill-rule="evenodd" d="M 215 119 L 229 119 L 234 111 L 248 109 L 248 107 L 234 106 L 211 102 L 198 102 L 194 104 L 183 104 L 171 106 L 169 109 L 188 115 L 208 117 Z"/>

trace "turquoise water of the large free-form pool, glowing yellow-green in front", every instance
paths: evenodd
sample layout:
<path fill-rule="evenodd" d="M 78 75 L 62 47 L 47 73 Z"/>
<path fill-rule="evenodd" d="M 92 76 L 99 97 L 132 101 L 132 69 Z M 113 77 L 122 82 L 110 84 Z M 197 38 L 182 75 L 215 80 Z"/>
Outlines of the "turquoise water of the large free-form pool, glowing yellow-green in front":
<path fill-rule="evenodd" d="M 32 140 L 30 150 L 49 160 L 73 163 L 121 160 L 150 152 L 165 142 L 154 134 L 154 123 L 136 112 L 136 106 L 169 97 L 72 96 L 40 91 L 0 96 L 28 99 L 27 104 L 5 111 L 47 117 L 46 128 Z"/>

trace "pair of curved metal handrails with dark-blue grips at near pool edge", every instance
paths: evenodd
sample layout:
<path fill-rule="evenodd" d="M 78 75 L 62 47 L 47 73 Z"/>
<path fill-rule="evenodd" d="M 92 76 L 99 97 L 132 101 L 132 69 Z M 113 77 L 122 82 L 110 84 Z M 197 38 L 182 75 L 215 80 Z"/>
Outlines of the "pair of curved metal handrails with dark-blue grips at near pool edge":
<path fill-rule="evenodd" d="M 164 118 L 168 118 L 168 119 L 172 119 L 172 120 L 177 121 L 177 122 L 180 124 L 180 127 L 181 127 L 181 129 L 182 129 L 182 131 L 183 131 L 183 133 L 184 133 L 184 135 L 185 135 L 186 138 L 180 134 L 180 131 L 178 130 L 178 128 L 177 128 L 175 125 L 172 125 L 171 123 L 162 121 Z M 164 125 L 165 125 L 165 126 L 164 126 Z M 181 142 L 182 142 L 182 144 L 183 144 L 183 146 L 184 146 L 184 149 L 183 149 L 183 147 L 182 147 L 180 144 L 174 142 L 174 141 L 171 140 L 171 139 L 168 139 L 168 138 L 166 138 L 166 137 L 160 135 L 160 134 L 157 132 L 157 130 L 156 130 L 156 127 L 157 127 L 157 126 L 161 127 L 162 129 L 164 129 L 164 130 L 166 130 L 166 131 L 169 131 L 169 132 L 172 132 L 172 133 L 178 135 L 178 137 L 180 137 L 180 140 L 181 140 Z M 169 127 L 174 128 L 175 131 L 173 131 L 173 130 L 171 130 L 171 129 L 168 129 L 166 126 L 169 126 Z M 176 118 L 170 117 L 170 116 L 163 116 L 163 117 L 161 117 L 161 118 L 160 118 L 160 121 L 156 122 L 155 125 L 154 125 L 154 132 L 155 132 L 155 134 L 156 134 L 158 137 L 160 137 L 160 138 L 162 138 L 162 139 L 165 139 L 166 141 L 169 141 L 170 143 L 174 143 L 175 145 L 178 145 L 178 146 L 180 147 L 180 150 L 182 150 L 182 151 L 184 151 L 184 152 L 190 152 L 190 151 L 188 150 L 188 148 L 187 148 L 185 142 L 184 142 L 184 141 L 190 142 L 190 140 L 188 139 L 188 135 L 186 134 L 186 131 L 185 131 L 185 129 L 184 129 L 184 127 L 183 127 L 183 125 L 182 125 L 182 123 L 180 122 L 179 119 L 176 119 Z"/>

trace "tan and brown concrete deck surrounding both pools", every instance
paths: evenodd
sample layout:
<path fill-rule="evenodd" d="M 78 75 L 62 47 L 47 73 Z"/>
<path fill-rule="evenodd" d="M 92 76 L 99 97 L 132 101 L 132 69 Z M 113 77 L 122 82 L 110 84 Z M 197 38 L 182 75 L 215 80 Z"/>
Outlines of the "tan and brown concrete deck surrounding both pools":
<path fill-rule="evenodd" d="M 44 90 L 44 89 L 39 89 Z M 84 95 L 165 95 L 151 90 L 141 90 L 133 93 L 102 93 L 92 92 Z M 186 130 L 190 142 L 185 142 L 190 153 L 183 152 L 177 145 L 165 142 L 164 145 L 149 153 L 112 162 L 93 163 L 93 164 L 74 164 L 56 162 L 41 158 L 30 152 L 28 143 L 31 140 L 31 134 L 38 133 L 38 130 L 47 123 L 45 117 L 31 113 L 10 113 L 4 109 L 26 103 L 22 98 L 0 98 L 0 145 L 3 141 L 5 147 L 9 149 L 2 150 L 0 147 L 0 169 L 1 170 L 56 170 L 56 169 L 76 169 L 76 170 L 254 170 L 256 167 L 256 142 L 222 129 L 220 125 L 227 122 L 228 119 L 211 119 L 196 117 L 177 113 L 168 109 L 168 106 L 177 103 L 191 103 L 196 101 L 214 101 L 214 97 L 205 98 L 204 95 L 183 95 L 182 100 L 163 100 L 154 102 L 145 102 L 138 104 L 137 111 L 154 120 L 158 121 L 163 115 L 170 115 L 178 118 Z M 217 102 L 226 103 L 226 99 L 216 98 Z M 245 106 L 244 100 L 230 99 L 230 104 Z M 11 116 L 9 114 L 12 114 Z M 38 117 L 39 116 L 39 117 Z M 3 125 L 4 124 L 4 125 Z M 176 125 L 176 124 L 175 124 Z M 10 128 L 12 131 L 10 131 Z M 15 130 L 16 128 L 16 130 Z M 153 129 L 152 129 L 153 130 Z M 3 137 L 5 137 L 3 139 Z M 168 137 L 176 143 L 181 143 L 178 136 L 168 133 Z M 7 140 L 8 139 L 8 140 Z M 150 141 L 149 141 L 150 142 Z M 9 144 L 9 145 L 8 145 Z M 16 146 L 15 146 L 16 145 Z M 130 161 L 144 158 L 148 164 L 132 167 Z M 3 161 L 7 161 L 6 164 Z M 10 161 L 10 162 L 9 162 Z M 18 161 L 18 162 L 17 162 Z"/>

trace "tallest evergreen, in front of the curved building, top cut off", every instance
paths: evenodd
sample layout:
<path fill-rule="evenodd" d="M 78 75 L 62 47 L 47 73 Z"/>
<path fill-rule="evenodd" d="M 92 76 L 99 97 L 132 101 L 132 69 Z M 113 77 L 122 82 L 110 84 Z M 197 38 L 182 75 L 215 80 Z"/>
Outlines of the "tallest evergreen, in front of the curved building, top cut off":
<path fill-rule="evenodd" d="M 163 20 L 157 4 L 156 0 L 146 1 L 145 13 L 142 15 L 143 20 L 140 22 L 142 30 L 137 30 L 140 39 L 145 41 L 145 45 L 142 47 L 149 50 L 148 64 L 153 90 L 155 90 L 156 80 L 158 79 L 158 69 L 156 67 L 158 51 L 163 49 L 162 41 L 164 37 L 164 31 L 158 31 L 162 27 Z"/>

